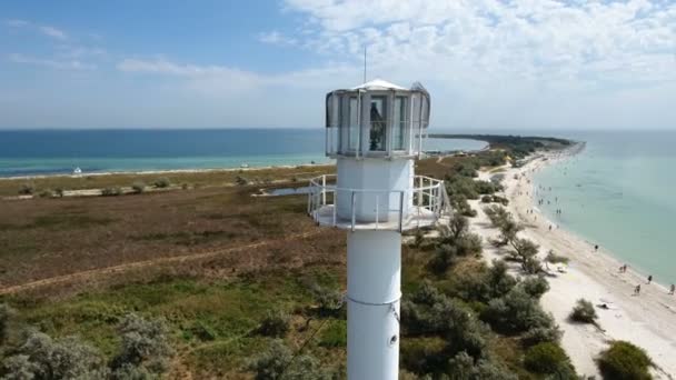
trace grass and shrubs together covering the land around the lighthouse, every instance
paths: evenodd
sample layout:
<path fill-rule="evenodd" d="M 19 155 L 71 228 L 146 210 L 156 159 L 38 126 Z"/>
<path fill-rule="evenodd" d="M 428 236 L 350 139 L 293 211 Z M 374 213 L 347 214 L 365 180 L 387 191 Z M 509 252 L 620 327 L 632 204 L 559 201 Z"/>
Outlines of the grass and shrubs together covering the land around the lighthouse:
<path fill-rule="evenodd" d="M 448 179 L 451 204 L 471 217 L 468 199 L 503 203 L 495 194 L 499 182 L 475 178 L 478 169 L 508 163 L 508 156 L 518 157 L 501 146 L 420 160 L 416 170 Z M 318 230 L 302 196 L 250 197 L 260 187 L 300 186 L 331 170 L 172 173 L 176 183 L 190 183 L 189 191 L 8 202 L 0 243 L 17 270 L 0 273 L 3 283 L 90 271 L 92 262 L 105 268 L 176 260 L 92 274 L 86 282 L 91 288 L 73 281 L 40 288 L 41 297 L 4 297 L 17 312 L 0 308 L 0 332 L 17 331 L 11 326 L 19 323 L 42 334 L 36 339 L 51 352 L 68 347 L 81 359 L 67 370 L 82 378 L 345 378 L 344 233 Z M 34 189 L 117 189 L 137 181 L 161 188 L 152 176 L 44 178 L 34 180 Z M 0 193 L 16 194 L 18 187 L 3 181 Z M 467 224 L 458 216 L 439 238 L 418 231 L 404 248 L 402 378 L 540 379 L 541 370 L 526 367 L 525 358 L 535 344 L 557 347 L 560 337 L 539 306 L 548 284 L 539 277 L 516 279 L 504 261 L 485 263 L 481 241 Z M 513 249 L 518 229 L 504 229 L 505 247 Z M 31 262 L 30 270 L 23 262 Z M 50 300 L 52 292 L 60 297 Z M 2 350 L 2 373 L 30 374 L 43 366 L 20 353 L 28 352 L 19 350 L 24 338 L 7 333 L 4 340 L 14 349 Z M 99 370 L 106 373 L 92 372 Z"/>

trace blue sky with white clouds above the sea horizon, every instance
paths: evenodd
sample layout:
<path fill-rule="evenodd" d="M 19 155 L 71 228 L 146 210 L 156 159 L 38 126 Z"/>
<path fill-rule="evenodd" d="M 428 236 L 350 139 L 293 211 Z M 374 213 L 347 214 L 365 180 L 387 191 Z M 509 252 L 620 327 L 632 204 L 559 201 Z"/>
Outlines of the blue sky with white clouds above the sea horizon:
<path fill-rule="evenodd" d="M 436 129 L 676 129 L 665 0 L 3 0 L 0 129 L 319 128 L 365 48 Z"/>

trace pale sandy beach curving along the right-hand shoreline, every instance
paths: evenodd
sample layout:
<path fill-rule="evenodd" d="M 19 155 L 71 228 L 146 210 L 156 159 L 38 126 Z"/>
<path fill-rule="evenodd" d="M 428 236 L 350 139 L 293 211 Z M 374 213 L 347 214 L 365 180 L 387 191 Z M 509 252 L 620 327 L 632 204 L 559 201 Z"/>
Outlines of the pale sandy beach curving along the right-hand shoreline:
<path fill-rule="evenodd" d="M 509 199 L 508 210 L 524 227 L 520 236 L 540 246 L 539 258 L 549 250 L 570 259 L 567 272 L 558 273 L 553 264 L 548 279 L 551 287 L 543 298 L 543 307 L 551 312 L 564 331 L 563 347 L 570 356 L 578 373 L 598 376 L 594 358 L 607 347 L 610 340 L 627 340 L 644 348 L 656 364 L 656 379 L 676 378 L 676 297 L 669 296 L 667 287 L 647 283 L 646 274 L 632 271 L 620 273 L 624 264 L 612 252 L 581 237 L 557 228 L 537 210 L 534 199 L 533 174 L 548 164 L 565 160 L 569 153 L 539 154 L 521 168 L 506 168 L 504 172 L 505 196 Z M 490 173 L 480 172 L 481 179 Z M 518 179 L 517 179 L 518 178 Z M 488 260 L 505 256 L 494 248 L 488 239 L 496 238 L 498 231 L 483 212 L 485 203 L 470 202 L 479 213 L 471 218 L 471 229 L 484 238 L 485 257 Z M 534 213 L 527 213 L 528 210 Z M 553 230 L 549 230 L 553 226 Z M 515 273 L 520 273 L 514 264 Z M 639 296 L 634 288 L 640 284 Z M 599 328 L 568 321 L 575 302 L 585 298 L 595 306 L 607 304 L 607 309 L 596 308 Z"/>

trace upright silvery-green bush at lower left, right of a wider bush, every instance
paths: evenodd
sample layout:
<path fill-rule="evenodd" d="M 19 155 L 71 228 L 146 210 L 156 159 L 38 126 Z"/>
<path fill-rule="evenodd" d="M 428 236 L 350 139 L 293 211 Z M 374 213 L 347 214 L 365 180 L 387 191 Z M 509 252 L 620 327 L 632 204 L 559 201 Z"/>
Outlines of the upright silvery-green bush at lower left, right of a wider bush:
<path fill-rule="evenodd" d="M 163 320 L 147 320 L 131 313 L 122 319 L 118 329 L 122 347 L 113 359 L 113 370 L 129 364 L 161 374 L 169 369 L 169 359 L 173 352 Z"/>

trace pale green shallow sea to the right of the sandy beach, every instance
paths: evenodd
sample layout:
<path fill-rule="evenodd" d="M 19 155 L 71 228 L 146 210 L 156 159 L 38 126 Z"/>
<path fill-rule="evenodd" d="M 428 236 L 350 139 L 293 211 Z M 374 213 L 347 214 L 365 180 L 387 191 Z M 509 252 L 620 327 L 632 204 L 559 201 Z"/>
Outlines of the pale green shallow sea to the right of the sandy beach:
<path fill-rule="evenodd" d="M 543 212 L 635 270 L 676 282 L 676 132 L 569 137 L 586 148 L 536 174 Z"/>

